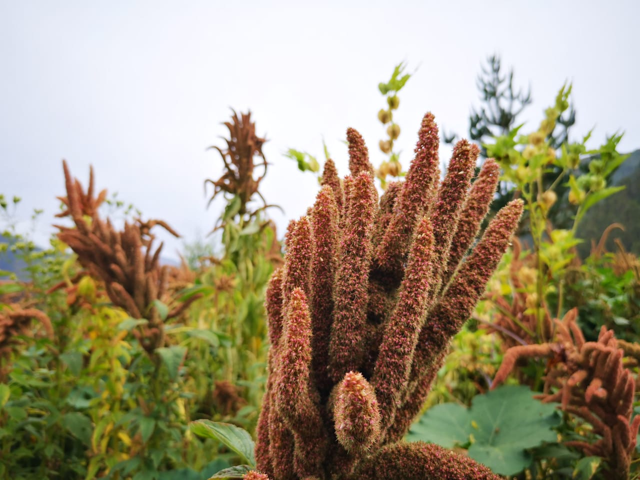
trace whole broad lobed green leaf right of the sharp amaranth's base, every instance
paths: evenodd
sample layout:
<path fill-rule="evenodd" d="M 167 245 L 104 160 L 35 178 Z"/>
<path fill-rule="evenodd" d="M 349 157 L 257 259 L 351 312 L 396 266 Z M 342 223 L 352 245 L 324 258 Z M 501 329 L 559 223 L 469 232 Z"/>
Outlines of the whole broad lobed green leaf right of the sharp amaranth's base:
<path fill-rule="evenodd" d="M 443 447 L 470 442 L 468 455 L 500 475 L 515 475 L 531 464 L 527 451 L 556 442 L 552 430 L 560 422 L 555 404 L 533 398 L 522 385 L 505 385 L 474 397 L 468 410 L 457 404 L 429 409 L 415 424 L 408 440 Z"/>

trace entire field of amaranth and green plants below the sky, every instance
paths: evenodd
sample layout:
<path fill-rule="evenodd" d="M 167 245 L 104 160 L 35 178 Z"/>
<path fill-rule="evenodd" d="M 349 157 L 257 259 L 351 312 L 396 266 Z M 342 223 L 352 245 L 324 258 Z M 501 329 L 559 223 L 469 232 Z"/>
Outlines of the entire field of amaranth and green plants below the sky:
<path fill-rule="evenodd" d="M 617 225 L 578 255 L 586 214 L 621 198 L 620 136 L 573 140 L 563 86 L 528 133 L 474 113 L 481 148 L 458 143 L 440 181 L 433 115 L 406 171 L 394 147 L 409 79 L 399 65 L 379 85 L 385 159 L 349 129 L 351 176 L 325 152 L 316 204 L 282 237 L 265 140 L 234 112 L 205 182 L 225 198 L 219 244 L 179 267 L 157 243 L 177 232 L 93 171 L 63 165 L 46 250 L 0 196 L 2 248 L 24 265 L 0 272 L 0 478 L 637 477 L 640 262 L 609 250 Z M 497 188 L 507 206 L 489 211 Z"/>

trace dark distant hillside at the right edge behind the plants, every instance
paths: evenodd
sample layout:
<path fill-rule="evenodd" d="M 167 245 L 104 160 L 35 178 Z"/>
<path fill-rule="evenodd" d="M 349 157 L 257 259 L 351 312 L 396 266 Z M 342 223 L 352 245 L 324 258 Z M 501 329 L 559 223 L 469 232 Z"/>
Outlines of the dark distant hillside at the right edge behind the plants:
<path fill-rule="evenodd" d="M 611 175 L 612 186 L 625 186 L 625 189 L 605 198 L 592 207 L 584 216 L 577 236 L 585 239 L 580 244 L 580 256 L 591 250 L 591 239 L 600 240 L 602 232 L 612 223 L 621 223 L 625 231 L 614 230 L 607 239 L 607 250 L 616 251 L 614 239 L 620 238 L 625 249 L 640 255 L 640 150 L 632 152 L 618 170 Z"/>

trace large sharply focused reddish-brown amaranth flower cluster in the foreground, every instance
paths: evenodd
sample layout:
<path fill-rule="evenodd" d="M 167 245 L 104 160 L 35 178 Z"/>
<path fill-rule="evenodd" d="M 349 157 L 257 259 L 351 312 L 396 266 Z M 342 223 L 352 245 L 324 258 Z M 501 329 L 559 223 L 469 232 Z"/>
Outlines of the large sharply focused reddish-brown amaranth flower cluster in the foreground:
<path fill-rule="evenodd" d="M 508 247 L 522 202 L 475 241 L 498 181 L 478 149 L 454 148 L 440 181 L 438 129 L 424 116 L 404 182 L 378 198 L 364 140 L 348 129 L 350 175 L 323 188 L 285 236 L 266 294 L 269 376 L 251 479 L 495 479 L 469 458 L 401 441 L 449 340 Z M 469 252 L 469 250 L 471 251 Z"/>

